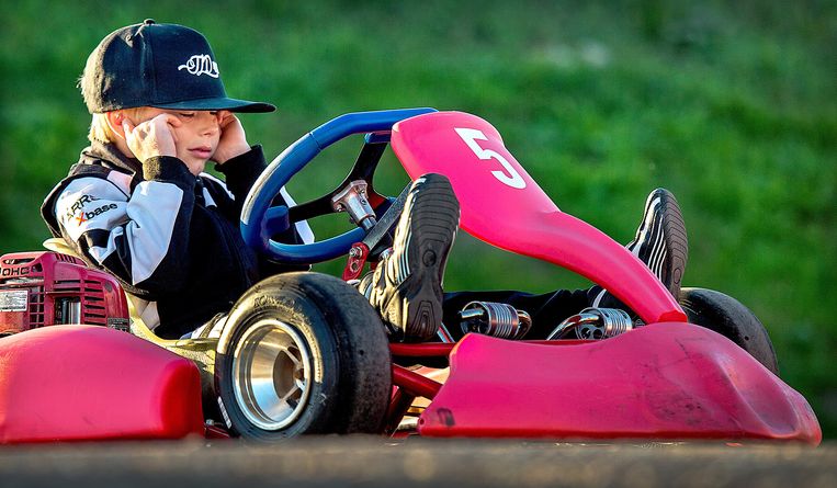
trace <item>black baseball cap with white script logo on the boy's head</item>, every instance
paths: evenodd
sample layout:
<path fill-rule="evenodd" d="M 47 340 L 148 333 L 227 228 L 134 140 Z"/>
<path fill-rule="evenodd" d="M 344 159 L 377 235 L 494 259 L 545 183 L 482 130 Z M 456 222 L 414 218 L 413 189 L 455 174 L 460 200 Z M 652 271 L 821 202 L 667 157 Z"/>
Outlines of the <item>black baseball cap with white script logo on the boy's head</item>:
<path fill-rule="evenodd" d="M 273 112 L 230 99 L 210 43 L 197 31 L 148 19 L 108 35 L 90 54 L 81 91 L 90 113 L 137 106 Z"/>

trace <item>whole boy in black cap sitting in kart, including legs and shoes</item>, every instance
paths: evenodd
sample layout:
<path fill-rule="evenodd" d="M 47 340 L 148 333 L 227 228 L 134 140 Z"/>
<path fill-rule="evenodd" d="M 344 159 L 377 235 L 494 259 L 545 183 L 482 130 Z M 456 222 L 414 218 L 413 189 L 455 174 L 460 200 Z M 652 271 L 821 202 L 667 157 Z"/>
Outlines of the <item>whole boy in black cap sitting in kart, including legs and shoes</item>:
<path fill-rule="evenodd" d="M 155 333 L 179 338 L 203 324 L 222 324 L 211 319 L 228 311 L 249 286 L 292 270 L 257 257 L 238 231 L 242 202 L 267 164 L 233 112 L 274 106 L 227 98 L 203 35 L 151 20 L 120 29 L 90 55 L 80 84 L 93 114 L 91 146 L 44 201 L 42 215 L 54 236 L 120 279 Z M 211 160 L 226 184 L 203 172 Z M 275 203 L 293 205 L 284 190 Z M 544 295 L 443 295 L 457 225 L 459 203 L 448 179 L 417 179 L 392 254 L 360 284 L 395 338 L 430 339 L 442 318 L 455 324 L 455 314 L 475 299 L 529 311 L 533 338 L 587 306 L 624 307 L 598 286 Z M 299 243 L 313 235 L 303 223 L 276 238 Z M 687 247 L 670 193 L 652 193 L 630 249 L 677 296 Z"/>

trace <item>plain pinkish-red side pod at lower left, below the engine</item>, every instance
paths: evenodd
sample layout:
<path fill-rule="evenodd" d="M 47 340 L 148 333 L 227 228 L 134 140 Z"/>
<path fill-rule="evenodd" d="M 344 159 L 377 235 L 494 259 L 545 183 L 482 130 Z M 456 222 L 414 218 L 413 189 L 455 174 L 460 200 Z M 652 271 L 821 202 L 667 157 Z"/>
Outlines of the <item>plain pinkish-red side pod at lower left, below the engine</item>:
<path fill-rule="evenodd" d="M 200 376 L 184 358 L 95 326 L 0 340 L 0 443 L 203 433 Z"/>

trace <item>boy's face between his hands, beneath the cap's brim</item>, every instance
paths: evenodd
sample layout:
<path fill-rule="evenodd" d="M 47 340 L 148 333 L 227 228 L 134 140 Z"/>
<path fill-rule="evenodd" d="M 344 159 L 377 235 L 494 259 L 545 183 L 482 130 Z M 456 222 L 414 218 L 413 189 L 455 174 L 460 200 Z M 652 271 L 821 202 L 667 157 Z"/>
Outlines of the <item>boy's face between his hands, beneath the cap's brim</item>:
<path fill-rule="evenodd" d="M 220 139 L 220 112 L 194 110 L 163 110 L 152 106 L 144 107 L 136 124 L 160 115 L 169 114 L 180 121 L 180 126 L 168 125 L 174 137 L 177 157 L 185 162 L 192 174 L 200 174 L 218 148 Z"/>

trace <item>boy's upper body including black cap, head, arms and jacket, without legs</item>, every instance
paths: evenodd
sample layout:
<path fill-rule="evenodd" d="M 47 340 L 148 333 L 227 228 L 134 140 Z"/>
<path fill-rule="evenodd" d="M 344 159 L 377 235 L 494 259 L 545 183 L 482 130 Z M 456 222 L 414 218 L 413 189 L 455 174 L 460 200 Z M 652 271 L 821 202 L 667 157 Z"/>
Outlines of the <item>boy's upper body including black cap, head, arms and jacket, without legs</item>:
<path fill-rule="evenodd" d="M 147 20 L 110 34 L 80 81 L 91 145 L 42 207 L 53 235 L 117 276 L 162 338 L 181 337 L 260 276 L 290 269 L 260 260 L 238 231 L 267 163 L 233 112 L 275 107 L 228 98 L 219 75 L 191 29 Z M 203 172 L 211 160 L 226 184 Z M 286 193 L 276 200 L 292 203 Z M 282 238 L 298 243 L 299 231 Z"/>

